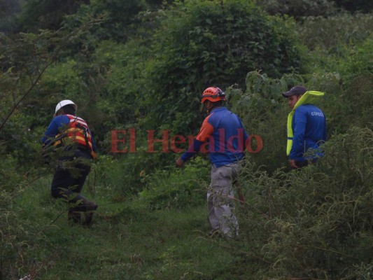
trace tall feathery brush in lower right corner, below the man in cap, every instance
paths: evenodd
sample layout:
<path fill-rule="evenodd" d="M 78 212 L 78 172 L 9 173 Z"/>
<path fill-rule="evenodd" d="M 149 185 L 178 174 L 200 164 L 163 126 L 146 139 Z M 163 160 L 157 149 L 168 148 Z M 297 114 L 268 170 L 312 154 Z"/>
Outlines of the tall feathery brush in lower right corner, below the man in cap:
<path fill-rule="evenodd" d="M 324 148 L 302 170 L 246 169 L 243 238 L 271 263 L 256 279 L 371 279 L 373 132 L 351 127 Z"/>

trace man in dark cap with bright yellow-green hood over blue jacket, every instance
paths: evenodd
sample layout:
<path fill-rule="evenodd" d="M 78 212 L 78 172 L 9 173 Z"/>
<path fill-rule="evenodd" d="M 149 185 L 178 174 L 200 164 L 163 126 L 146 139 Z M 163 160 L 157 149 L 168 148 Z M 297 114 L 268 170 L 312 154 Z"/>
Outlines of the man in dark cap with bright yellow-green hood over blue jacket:
<path fill-rule="evenodd" d="M 283 92 L 292 109 L 288 116 L 287 154 L 293 168 L 316 162 L 323 155 L 319 147 L 326 141 L 325 115 L 314 105 L 323 95 L 323 92 L 308 91 L 302 85 Z"/>

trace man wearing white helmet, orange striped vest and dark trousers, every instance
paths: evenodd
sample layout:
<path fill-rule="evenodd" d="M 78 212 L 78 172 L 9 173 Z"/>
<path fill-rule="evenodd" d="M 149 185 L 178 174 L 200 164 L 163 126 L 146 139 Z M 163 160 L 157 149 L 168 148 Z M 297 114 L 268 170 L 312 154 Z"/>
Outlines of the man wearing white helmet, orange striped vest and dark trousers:
<path fill-rule="evenodd" d="M 64 155 L 59 158 L 52 180 L 52 197 L 69 202 L 69 220 L 80 223 L 80 212 L 84 212 L 83 224 L 89 225 L 98 205 L 80 195 L 80 192 L 90 173 L 90 160 L 96 158 L 96 146 L 85 120 L 75 116 L 77 108 L 71 100 L 59 102 L 42 142 L 44 148 L 64 148 Z"/>

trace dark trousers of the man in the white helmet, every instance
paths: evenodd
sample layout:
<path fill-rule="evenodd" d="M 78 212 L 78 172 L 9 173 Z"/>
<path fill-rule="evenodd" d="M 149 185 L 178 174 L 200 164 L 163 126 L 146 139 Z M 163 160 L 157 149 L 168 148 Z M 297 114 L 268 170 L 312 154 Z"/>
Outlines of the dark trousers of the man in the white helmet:
<path fill-rule="evenodd" d="M 91 156 L 87 152 L 80 150 L 71 156 L 60 158 L 50 188 L 52 197 L 63 198 L 68 202 L 82 200 L 84 197 L 80 192 L 90 174 L 90 159 Z"/>

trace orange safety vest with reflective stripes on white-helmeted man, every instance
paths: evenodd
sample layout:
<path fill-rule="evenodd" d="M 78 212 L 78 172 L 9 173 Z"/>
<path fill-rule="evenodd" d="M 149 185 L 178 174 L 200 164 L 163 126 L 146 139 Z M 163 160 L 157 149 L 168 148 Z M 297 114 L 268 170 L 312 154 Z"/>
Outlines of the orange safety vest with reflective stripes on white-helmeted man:
<path fill-rule="evenodd" d="M 66 114 L 65 116 L 69 118 L 69 125 L 62 134 L 56 135 L 55 138 L 58 140 L 53 145 L 58 146 L 67 138 L 71 143 L 78 143 L 81 146 L 85 146 L 87 151 L 90 151 L 92 158 L 97 158 L 92 147 L 92 135 L 90 134 L 90 130 L 88 130 L 85 120 L 73 115 Z"/>

